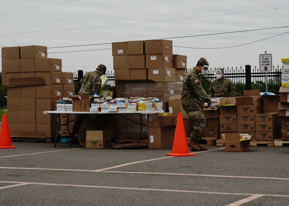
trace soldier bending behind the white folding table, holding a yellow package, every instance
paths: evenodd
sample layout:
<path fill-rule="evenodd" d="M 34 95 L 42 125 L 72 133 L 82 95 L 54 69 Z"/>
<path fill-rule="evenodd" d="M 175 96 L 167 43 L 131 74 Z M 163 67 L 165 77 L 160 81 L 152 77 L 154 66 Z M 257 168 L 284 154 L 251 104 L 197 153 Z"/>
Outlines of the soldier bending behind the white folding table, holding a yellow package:
<path fill-rule="evenodd" d="M 106 71 L 106 67 L 103 64 L 98 65 L 95 71 L 86 72 L 84 76 L 80 80 L 80 90 L 78 95 L 94 95 L 94 93 L 99 94 L 99 90 L 101 89 L 101 75 L 104 75 Z M 72 143 L 77 143 L 75 139 L 75 134 L 78 134 L 80 126 L 82 122 L 85 123 L 85 129 L 94 130 L 95 127 L 95 114 L 91 115 L 75 115 L 75 121 L 70 129 L 71 133 L 71 141 Z"/>

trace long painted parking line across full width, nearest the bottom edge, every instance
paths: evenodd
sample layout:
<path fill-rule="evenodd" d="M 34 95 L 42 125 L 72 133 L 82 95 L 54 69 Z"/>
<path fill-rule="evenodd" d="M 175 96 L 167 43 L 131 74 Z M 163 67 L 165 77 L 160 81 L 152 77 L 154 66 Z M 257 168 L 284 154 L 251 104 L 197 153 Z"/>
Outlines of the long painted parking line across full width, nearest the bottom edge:
<path fill-rule="evenodd" d="M 111 186 L 96 186 L 96 185 L 72 185 L 72 184 L 54 184 L 54 183 L 40 183 L 40 182 L 12 182 L 0 181 L 2 183 L 19 183 L 19 184 L 35 184 L 35 185 L 48 185 L 48 186 L 66 186 L 66 187 L 86 187 L 86 188 L 107 188 L 107 189 L 122 189 L 122 190 L 148 190 L 148 191 L 162 191 L 162 192 L 188 192 L 188 193 L 201 193 L 201 194 L 225 194 L 225 195 L 250 195 L 250 196 L 278 196 L 289 197 L 289 195 L 282 194 L 245 194 L 245 193 L 230 193 L 230 192 L 205 192 L 193 190 L 168 190 L 168 189 L 153 189 L 153 188 L 127 188 L 127 187 L 111 187 Z M 247 198 L 245 198 L 247 199 Z"/>

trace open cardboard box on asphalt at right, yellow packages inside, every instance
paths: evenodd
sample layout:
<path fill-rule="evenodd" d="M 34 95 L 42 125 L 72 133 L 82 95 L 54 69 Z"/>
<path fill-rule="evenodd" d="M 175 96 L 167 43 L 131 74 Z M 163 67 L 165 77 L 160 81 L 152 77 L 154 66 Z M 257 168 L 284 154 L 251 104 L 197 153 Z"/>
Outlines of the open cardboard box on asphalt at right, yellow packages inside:
<path fill-rule="evenodd" d="M 250 150 L 250 139 L 249 135 L 248 140 L 240 141 L 239 133 L 224 133 L 221 134 L 225 140 L 225 152 L 242 152 Z"/>

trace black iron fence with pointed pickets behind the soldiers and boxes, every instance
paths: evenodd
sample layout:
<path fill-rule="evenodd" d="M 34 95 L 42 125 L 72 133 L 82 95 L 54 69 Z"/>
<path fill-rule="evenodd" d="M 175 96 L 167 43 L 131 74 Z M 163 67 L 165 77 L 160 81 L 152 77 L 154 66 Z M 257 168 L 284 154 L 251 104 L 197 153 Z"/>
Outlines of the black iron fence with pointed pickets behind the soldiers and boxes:
<path fill-rule="evenodd" d="M 214 73 L 217 68 L 210 68 L 207 76 L 201 75 L 201 83 L 205 91 L 209 94 L 209 89 L 211 82 L 215 79 Z M 239 68 L 223 68 L 224 76 L 233 81 L 236 85 L 237 96 L 244 95 L 244 90 L 259 89 L 260 92 L 266 91 L 266 74 L 261 72 L 256 66 L 251 68 L 251 65 L 245 65 L 245 68 L 240 66 Z M 187 69 L 186 71 L 189 71 Z M 279 94 L 279 88 L 281 87 L 281 74 L 283 71 L 283 66 L 273 66 L 272 72 L 267 72 L 267 89 L 268 92 Z M 114 86 L 114 73 L 107 72 L 106 77 L 108 77 L 108 83 L 105 85 L 103 90 L 110 91 L 110 88 Z M 78 70 L 77 73 L 74 72 L 73 82 L 75 85 L 75 94 L 79 91 L 79 81 L 83 77 L 83 70 Z"/>

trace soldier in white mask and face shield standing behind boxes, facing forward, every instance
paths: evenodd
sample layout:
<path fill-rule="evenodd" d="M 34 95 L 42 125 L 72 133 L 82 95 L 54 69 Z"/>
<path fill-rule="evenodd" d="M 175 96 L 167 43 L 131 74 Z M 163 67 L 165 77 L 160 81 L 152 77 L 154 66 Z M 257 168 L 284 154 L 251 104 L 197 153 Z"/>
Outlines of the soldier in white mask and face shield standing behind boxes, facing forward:
<path fill-rule="evenodd" d="M 212 81 L 210 87 L 210 98 L 214 97 L 235 97 L 235 84 L 228 78 L 224 77 L 224 69 L 218 68 L 214 74 L 217 78 Z"/>

